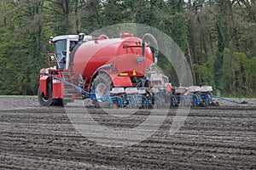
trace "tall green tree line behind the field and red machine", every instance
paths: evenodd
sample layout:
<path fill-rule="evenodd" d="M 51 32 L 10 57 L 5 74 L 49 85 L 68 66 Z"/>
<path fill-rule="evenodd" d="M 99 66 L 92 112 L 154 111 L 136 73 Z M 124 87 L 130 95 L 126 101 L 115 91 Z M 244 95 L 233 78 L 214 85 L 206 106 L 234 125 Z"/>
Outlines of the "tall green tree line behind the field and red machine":
<path fill-rule="evenodd" d="M 250 0 L 0 0 L 0 94 L 37 94 L 49 37 L 121 23 L 165 32 L 182 49 L 195 85 L 256 95 L 256 3 Z M 53 50 L 49 47 L 49 51 Z M 160 66 L 178 85 L 172 65 Z"/>

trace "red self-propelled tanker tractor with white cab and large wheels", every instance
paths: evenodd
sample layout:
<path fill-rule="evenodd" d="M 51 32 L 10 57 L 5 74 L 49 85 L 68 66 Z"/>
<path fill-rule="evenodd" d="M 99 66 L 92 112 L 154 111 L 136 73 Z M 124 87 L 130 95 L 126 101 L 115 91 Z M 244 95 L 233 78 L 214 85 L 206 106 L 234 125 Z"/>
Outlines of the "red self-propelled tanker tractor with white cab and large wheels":
<path fill-rule="evenodd" d="M 154 42 L 152 53 L 146 38 Z M 79 35 L 52 37 L 55 53 L 49 68 L 40 71 L 40 105 L 62 105 L 74 99 L 92 99 L 96 107 L 150 107 L 169 104 L 168 78 L 157 69 L 158 45 L 151 34 L 143 39 L 130 33 L 119 38 Z"/>

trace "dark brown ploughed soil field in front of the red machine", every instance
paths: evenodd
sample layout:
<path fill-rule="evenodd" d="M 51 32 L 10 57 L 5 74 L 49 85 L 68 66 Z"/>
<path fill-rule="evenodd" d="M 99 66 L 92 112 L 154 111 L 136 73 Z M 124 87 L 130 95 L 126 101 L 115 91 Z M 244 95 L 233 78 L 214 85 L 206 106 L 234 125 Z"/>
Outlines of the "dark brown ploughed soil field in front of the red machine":
<path fill-rule="evenodd" d="M 81 135 L 63 107 L 40 107 L 37 98 L 0 98 L 0 169 L 256 169 L 256 100 L 248 102 L 192 108 L 171 135 L 177 109 L 170 109 L 148 139 L 115 146 Z M 102 127 L 125 129 L 139 126 L 151 114 L 86 111 Z M 165 116 L 161 110 L 157 114 Z M 108 139 L 114 143 L 106 135 Z"/>

